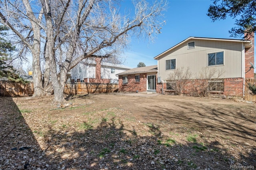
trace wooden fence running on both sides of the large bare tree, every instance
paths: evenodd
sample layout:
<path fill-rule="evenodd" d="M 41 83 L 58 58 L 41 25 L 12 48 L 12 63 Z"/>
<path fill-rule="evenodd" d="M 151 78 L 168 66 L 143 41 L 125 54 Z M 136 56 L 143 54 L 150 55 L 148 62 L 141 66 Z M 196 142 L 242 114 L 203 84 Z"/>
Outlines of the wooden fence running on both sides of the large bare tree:
<path fill-rule="evenodd" d="M 66 83 L 65 94 L 90 94 L 117 92 L 118 84 L 99 83 Z M 12 81 L 0 81 L 0 96 L 32 96 L 34 94 L 33 83 L 16 83 Z"/>

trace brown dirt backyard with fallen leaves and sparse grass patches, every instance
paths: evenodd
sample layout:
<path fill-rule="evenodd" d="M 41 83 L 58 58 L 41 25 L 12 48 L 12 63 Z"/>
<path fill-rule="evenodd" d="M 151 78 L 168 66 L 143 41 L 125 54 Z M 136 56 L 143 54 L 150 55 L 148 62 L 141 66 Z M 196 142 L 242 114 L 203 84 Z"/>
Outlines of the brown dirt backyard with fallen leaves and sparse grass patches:
<path fill-rule="evenodd" d="M 156 94 L 0 97 L 0 170 L 256 168 L 256 104 Z"/>

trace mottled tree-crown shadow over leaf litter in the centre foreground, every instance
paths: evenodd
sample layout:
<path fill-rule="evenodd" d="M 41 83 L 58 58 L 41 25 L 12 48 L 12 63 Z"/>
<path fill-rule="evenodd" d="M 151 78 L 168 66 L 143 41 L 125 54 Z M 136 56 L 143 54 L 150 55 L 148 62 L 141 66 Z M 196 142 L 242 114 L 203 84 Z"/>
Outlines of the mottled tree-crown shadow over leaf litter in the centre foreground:
<path fill-rule="evenodd" d="M 51 169 L 230 169 L 239 164 L 217 141 L 204 145 L 165 139 L 160 126 L 145 123 L 152 135 L 138 136 L 114 117 L 97 127 L 83 122 L 84 130 L 50 129 L 46 155 Z M 245 158 L 248 161 L 247 158 Z M 253 162 L 246 162 L 252 164 Z"/>

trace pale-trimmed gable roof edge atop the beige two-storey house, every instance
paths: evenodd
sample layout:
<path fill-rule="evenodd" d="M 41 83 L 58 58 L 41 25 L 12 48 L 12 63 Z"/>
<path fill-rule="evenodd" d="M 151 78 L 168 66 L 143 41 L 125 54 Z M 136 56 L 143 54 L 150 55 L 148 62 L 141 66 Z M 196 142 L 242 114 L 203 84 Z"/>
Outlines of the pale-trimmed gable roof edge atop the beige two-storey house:
<path fill-rule="evenodd" d="M 161 57 L 162 55 L 170 52 L 171 50 L 173 50 L 174 48 L 180 46 L 181 44 L 183 44 L 184 42 L 188 42 L 191 40 L 212 40 L 212 41 L 227 41 L 227 42 L 243 42 L 244 46 L 246 48 L 250 48 L 252 46 L 252 41 L 251 40 L 241 40 L 241 39 L 226 39 L 226 38 L 202 38 L 202 37 L 188 37 L 186 40 L 183 40 L 182 42 L 176 44 L 175 46 L 173 46 L 172 48 L 169 48 L 168 50 L 166 50 L 165 52 L 162 52 L 161 54 L 159 54 L 158 56 L 154 57 L 155 60 L 157 60 L 159 57 Z"/>

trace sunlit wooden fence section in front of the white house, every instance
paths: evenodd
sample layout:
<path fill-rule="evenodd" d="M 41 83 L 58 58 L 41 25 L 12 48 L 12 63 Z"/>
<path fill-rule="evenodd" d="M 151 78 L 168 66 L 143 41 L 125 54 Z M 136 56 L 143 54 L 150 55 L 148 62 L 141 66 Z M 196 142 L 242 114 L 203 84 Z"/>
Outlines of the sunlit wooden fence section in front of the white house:
<path fill-rule="evenodd" d="M 109 93 L 117 92 L 118 84 L 99 84 L 99 83 L 66 83 L 65 94 L 90 94 L 90 93 Z"/>

